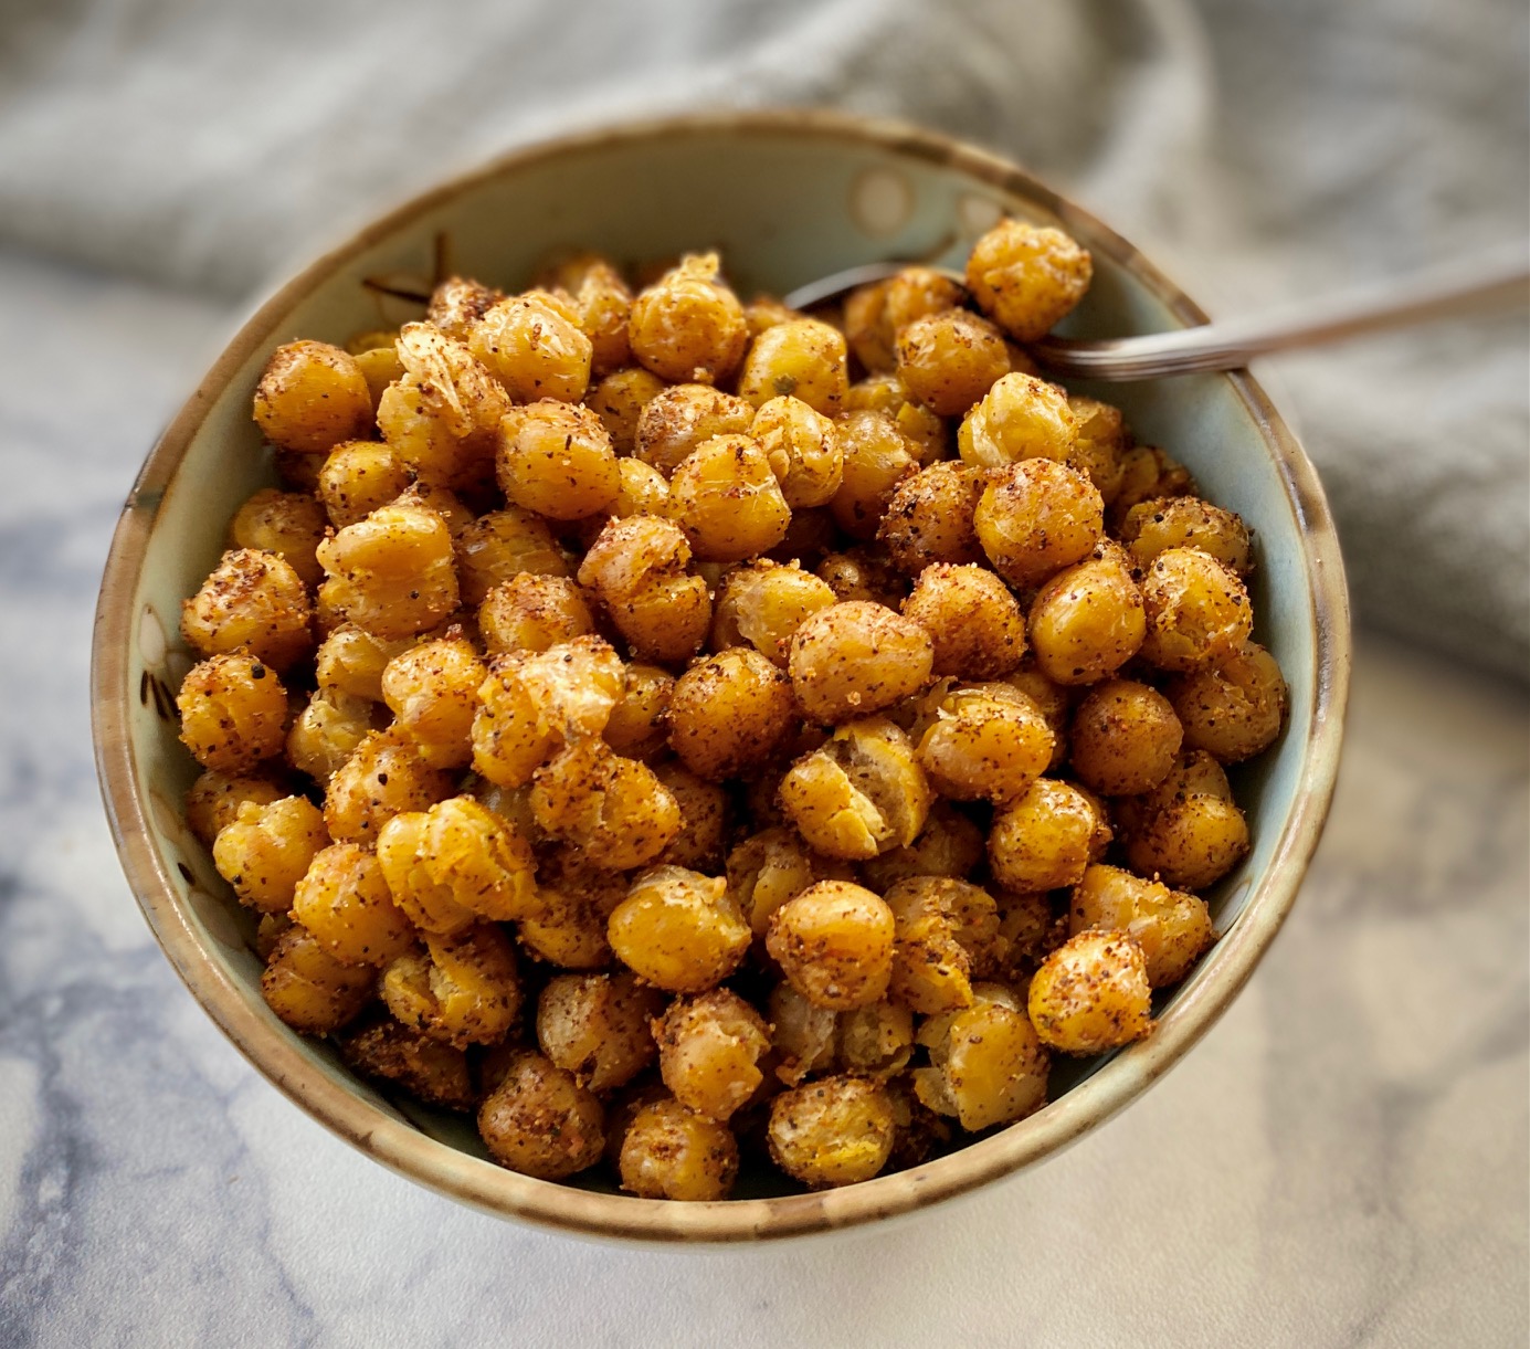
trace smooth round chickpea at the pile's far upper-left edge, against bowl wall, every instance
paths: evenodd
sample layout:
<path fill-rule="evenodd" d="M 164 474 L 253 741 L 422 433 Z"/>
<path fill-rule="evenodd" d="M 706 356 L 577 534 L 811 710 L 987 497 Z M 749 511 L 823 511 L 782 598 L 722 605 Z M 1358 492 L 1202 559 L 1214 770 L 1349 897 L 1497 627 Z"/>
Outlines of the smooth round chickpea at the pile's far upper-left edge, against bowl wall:
<path fill-rule="evenodd" d="M 372 393 L 356 358 L 329 343 L 286 343 L 256 387 L 256 425 L 272 445 L 326 454 L 372 428 Z"/>

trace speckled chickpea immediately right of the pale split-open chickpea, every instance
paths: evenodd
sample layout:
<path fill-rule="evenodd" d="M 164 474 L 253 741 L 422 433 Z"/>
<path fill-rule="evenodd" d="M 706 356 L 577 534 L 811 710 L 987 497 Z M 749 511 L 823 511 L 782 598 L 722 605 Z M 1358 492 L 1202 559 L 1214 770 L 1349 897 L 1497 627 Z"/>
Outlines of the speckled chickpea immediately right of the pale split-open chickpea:
<path fill-rule="evenodd" d="M 1008 684 L 952 688 L 930 699 L 918 756 L 930 786 L 956 801 L 1004 806 L 1051 763 L 1047 717 Z"/>

